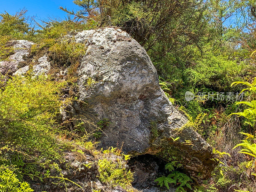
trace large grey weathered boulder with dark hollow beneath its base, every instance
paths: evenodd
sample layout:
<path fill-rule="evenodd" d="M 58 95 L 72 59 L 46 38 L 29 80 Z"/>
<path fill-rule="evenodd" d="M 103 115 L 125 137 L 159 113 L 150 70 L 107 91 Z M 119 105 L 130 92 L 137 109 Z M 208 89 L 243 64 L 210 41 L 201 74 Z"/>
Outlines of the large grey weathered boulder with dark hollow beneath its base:
<path fill-rule="evenodd" d="M 79 101 L 63 115 L 103 125 L 109 120 L 109 126 L 101 126 L 99 147 L 122 146 L 124 152 L 133 155 L 176 159 L 192 176 L 207 178 L 215 165 L 212 148 L 184 126 L 187 118 L 159 87 L 156 69 L 145 49 L 126 32 L 114 28 L 82 31 L 73 38 L 87 44 L 88 49 L 77 70 Z"/>

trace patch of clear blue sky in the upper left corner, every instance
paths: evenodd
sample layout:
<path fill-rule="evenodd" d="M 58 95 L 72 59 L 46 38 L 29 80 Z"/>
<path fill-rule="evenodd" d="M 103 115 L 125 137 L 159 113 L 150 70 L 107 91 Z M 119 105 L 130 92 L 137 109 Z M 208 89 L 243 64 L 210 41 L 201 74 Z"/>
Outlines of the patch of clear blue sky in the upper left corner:
<path fill-rule="evenodd" d="M 66 13 L 58 9 L 59 6 L 70 10 L 78 8 L 72 0 L 0 0 L 0 12 L 14 14 L 25 7 L 28 10 L 27 16 L 36 16 L 36 19 L 52 16 L 65 19 Z"/>

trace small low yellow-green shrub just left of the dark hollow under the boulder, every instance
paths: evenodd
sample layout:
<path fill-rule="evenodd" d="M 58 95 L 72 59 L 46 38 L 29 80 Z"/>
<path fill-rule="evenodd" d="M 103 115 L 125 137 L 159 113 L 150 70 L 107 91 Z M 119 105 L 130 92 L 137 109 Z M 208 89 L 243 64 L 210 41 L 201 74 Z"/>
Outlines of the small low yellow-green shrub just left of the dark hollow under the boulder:
<path fill-rule="evenodd" d="M 125 187 L 130 185 L 133 179 L 133 173 L 125 168 L 125 162 L 122 160 L 112 162 L 111 160 L 100 159 L 99 172 L 100 181 L 111 186 Z"/>

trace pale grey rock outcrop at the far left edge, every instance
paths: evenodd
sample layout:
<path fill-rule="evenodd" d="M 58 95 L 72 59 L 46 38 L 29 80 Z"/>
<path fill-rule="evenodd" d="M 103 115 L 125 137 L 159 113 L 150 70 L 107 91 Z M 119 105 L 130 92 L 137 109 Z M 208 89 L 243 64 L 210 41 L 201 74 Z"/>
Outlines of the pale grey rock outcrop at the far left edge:
<path fill-rule="evenodd" d="M 23 60 L 23 56 L 28 55 L 28 51 L 34 44 L 27 40 L 18 40 L 12 42 L 14 48 L 14 54 L 6 61 L 0 61 L 0 73 L 2 75 L 12 75 L 18 70 L 18 64 Z"/>

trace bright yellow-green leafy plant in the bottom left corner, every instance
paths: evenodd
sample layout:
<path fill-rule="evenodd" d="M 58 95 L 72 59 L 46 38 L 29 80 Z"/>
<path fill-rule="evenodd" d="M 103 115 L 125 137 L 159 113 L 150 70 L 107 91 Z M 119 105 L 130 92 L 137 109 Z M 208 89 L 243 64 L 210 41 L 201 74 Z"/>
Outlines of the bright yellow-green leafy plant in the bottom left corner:
<path fill-rule="evenodd" d="M 27 182 L 20 182 L 9 169 L 0 169 L 0 192 L 32 192 Z"/>

